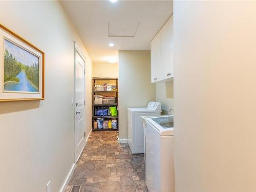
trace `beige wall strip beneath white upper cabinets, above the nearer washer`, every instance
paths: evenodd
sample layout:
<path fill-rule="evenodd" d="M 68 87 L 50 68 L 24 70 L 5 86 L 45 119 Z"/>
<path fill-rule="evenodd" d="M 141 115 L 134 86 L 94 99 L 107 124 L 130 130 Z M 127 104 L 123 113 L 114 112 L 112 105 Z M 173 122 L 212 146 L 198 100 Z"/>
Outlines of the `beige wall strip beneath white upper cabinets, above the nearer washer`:
<path fill-rule="evenodd" d="M 174 82 L 156 82 L 156 101 L 161 103 L 162 114 L 174 110 Z"/>

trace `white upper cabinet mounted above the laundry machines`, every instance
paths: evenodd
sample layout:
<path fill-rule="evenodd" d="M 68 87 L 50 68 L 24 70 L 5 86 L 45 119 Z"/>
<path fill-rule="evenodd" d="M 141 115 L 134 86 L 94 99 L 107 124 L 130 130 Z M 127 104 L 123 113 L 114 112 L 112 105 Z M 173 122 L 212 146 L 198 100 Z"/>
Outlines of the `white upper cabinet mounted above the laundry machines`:
<path fill-rule="evenodd" d="M 151 41 L 151 82 L 172 78 L 174 75 L 173 16 Z"/>

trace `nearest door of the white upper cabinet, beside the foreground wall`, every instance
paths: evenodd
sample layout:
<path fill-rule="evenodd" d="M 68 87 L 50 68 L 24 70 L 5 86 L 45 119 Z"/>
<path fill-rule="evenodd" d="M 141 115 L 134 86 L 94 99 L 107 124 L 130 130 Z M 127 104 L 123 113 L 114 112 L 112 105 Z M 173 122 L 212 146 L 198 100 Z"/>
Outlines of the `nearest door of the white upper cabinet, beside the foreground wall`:
<path fill-rule="evenodd" d="M 171 16 L 162 28 L 162 71 L 163 79 L 173 77 L 174 66 L 174 38 L 173 16 Z"/>

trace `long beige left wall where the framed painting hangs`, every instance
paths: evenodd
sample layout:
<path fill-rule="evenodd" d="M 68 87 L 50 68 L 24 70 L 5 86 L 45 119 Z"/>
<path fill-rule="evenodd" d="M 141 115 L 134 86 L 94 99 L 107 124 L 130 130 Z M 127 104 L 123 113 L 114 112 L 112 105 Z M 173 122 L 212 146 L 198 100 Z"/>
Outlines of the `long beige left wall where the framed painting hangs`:
<path fill-rule="evenodd" d="M 45 52 L 45 100 L 0 103 L 0 191 L 59 191 L 74 163 L 73 40 L 92 63 L 59 2 L 0 2 L 0 22 Z M 86 127 L 89 134 L 91 126 Z"/>

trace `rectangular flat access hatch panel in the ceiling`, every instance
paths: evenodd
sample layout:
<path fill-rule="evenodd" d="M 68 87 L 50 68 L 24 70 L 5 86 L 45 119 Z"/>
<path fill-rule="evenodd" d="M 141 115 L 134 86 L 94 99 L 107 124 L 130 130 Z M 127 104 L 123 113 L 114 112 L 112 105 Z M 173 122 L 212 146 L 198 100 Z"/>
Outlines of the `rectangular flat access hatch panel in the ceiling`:
<path fill-rule="evenodd" d="M 109 22 L 109 37 L 134 37 L 140 23 Z"/>

